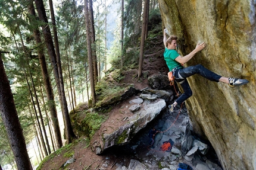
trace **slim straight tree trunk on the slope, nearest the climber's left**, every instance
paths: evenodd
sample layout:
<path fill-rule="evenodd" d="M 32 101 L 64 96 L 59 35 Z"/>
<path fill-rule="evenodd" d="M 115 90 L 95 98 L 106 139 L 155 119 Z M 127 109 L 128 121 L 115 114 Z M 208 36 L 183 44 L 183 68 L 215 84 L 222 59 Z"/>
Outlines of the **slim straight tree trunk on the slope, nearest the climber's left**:
<path fill-rule="evenodd" d="M 145 0 L 144 8 L 143 8 L 143 21 L 142 21 L 142 31 L 141 31 L 141 49 L 139 52 L 139 72 L 138 78 L 141 78 L 142 75 L 142 65 L 143 65 L 143 54 L 144 54 L 144 43 L 145 43 L 145 31 L 146 31 L 146 18 L 148 15 L 148 2 L 149 0 Z"/>

